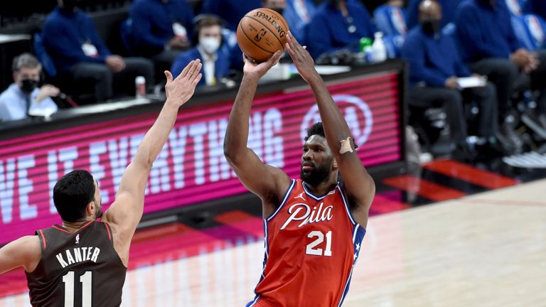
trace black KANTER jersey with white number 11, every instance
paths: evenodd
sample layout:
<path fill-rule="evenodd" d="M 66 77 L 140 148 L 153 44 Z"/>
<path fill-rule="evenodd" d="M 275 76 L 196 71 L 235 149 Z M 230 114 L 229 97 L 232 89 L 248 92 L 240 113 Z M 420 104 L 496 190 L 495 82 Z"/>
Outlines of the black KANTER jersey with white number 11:
<path fill-rule="evenodd" d="M 42 258 L 26 273 L 32 306 L 109 307 L 122 303 L 127 268 L 104 222 L 86 222 L 77 232 L 59 225 L 37 230 Z"/>

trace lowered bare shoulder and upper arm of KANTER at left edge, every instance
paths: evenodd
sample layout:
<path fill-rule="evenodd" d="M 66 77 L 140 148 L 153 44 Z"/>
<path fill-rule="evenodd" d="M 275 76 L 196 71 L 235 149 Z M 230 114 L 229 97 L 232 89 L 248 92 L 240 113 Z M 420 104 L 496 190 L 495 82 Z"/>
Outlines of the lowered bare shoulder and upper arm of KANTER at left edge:
<path fill-rule="evenodd" d="M 38 236 L 25 236 L 6 244 L 0 249 L 0 274 L 23 266 L 25 271 L 36 269 L 42 251 Z"/>

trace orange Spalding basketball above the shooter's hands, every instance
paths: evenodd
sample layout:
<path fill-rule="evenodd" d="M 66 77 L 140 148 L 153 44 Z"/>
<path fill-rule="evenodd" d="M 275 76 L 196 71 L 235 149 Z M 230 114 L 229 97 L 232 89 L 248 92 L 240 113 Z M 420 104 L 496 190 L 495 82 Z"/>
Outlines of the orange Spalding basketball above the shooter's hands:
<path fill-rule="evenodd" d="M 257 62 L 267 61 L 277 50 L 284 51 L 287 21 L 272 9 L 248 12 L 237 26 L 237 43 L 242 52 Z"/>

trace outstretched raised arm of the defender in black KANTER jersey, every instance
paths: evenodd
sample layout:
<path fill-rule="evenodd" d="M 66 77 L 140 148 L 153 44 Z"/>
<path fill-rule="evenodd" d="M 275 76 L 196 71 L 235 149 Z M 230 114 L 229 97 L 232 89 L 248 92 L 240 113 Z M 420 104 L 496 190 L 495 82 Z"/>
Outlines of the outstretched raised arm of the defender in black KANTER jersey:
<path fill-rule="evenodd" d="M 144 135 L 133 161 L 125 169 L 116 199 L 102 218 L 112 228 L 114 248 L 125 265 L 129 259 L 131 239 L 144 210 L 144 190 L 151 166 L 174 126 L 178 108 L 191 98 L 196 89 L 201 79 L 201 66 L 200 60 L 191 61 L 175 80 L 171 72 L 165 72 L 166 102 L 154 125 Z"/>

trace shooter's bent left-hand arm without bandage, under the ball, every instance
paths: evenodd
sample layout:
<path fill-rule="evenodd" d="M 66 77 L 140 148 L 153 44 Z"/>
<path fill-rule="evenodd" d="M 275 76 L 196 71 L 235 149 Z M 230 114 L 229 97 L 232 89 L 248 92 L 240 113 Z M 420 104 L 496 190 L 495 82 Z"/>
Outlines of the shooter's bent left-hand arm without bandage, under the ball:
<path fill-rule="evenodd" d="M 281 55 L 277 51 L 267 62 L 259 65 L 245 60 L 245 75 L 231 109 L 224 139 L 225 158 L 241 183 L 262 199 L 264 217 L 269 216 L 279 205 L 280 198 L 290 185 L 290 178 L 279 168 L 264 164 L 247 147 L 248 119 L 259 78 L 279 61 Z"/>

